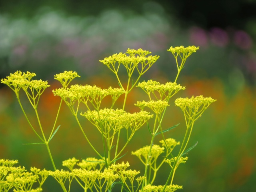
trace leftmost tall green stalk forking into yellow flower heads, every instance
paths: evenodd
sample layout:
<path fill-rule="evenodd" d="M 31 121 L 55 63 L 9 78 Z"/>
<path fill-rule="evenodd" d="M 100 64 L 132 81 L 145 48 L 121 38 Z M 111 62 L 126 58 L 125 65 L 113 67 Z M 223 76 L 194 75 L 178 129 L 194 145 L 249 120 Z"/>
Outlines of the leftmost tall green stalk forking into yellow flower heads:
<path fill-rule="evenodd" d="M 50 87 L 50 85 L 48 85 L 47 81 L 32 80 L 32 78 L 34 76 L 36 76 L 35 73 L 30 73 L 30 72 L 24 73 L 21 71 L 17 71 L 14 74 L 10 74 L 10 76 L 6 77 L 6 79 L 1 79 L 1 83 L 8 85 L 16 94 L 18 103 L 20 104 L 20 108 L 22 109 L 22 112 L 23 112 L 26 120 L 28 121 L 28 124 L 30 125 L 30 127 L 32 128 L 32 130 L 34 131 L 36 136 L 39 138 L 39 140 L 41 141 L 40 143 L 32 143 L 32 144 L 44 144 L 46 146 L 48 154 L 50 156 L 50 160 L 52 162 L 52 166 L 53 166 L 54 170 L 56 170 L 56 166 L 55 166 L 54 160 L 52 158 L 52 154 L 50 152 L 49 142 L 52 139 L 52 137 L 54 136 L 54 134 L 58 131 L 58 128 L 60 127 L 60 126 L 58 126 L 58 128 L 56 128 L 56 122 L 57 122 L 57 119 L 59 116 L 62 100 L 60 102 L 60 106 L 59 106 L 59 109 L 58 109 L 58 112 L 57 112 L 57 115 L 55 118 L 55 122 L 52 127 L 52 132 L 50 133 L 48 138 L 46 138 L 46 136 L 44 134 L 44 129 L 42 127 L 42 124 L 40 122 L 40 118 L 38 115 L 38 103 L 40 100 L 40 96 L 43 94 L 44 90 L 47 87 Z M 58 79 L 62 83 L 63 89 L 66 89 L 68 84 L 70 84 L 70 82 L 76 77 L 78 77 L 76 72 L 72 72 L 72 71 L 66 72 L 65 71 L 58 77 Z M 38 121 L 38 126 L 40 128 L 40 131 L 36 130 L 36 128 L 34 126 L 32 126 L 28 116 L 26 115 L 26 112 L 25 112 L 25 110 L 21 104 L 21 101 L 20 101 L 20 90 L 23 90 L 25 92 L 30 104 L 32 105 L 32 107 L 35 111 L 36 119 Z M 60 183 L 60 185 L 61 185 L 63 191 L 66 192 L 67 190 L 64 186 L 64 183 Z"/>

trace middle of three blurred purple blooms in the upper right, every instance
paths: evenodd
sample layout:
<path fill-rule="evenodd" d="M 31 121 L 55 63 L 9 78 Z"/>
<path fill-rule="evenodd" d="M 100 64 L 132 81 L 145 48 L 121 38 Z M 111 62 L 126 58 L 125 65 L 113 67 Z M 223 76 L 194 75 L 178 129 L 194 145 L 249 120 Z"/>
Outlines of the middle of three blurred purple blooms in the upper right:
<path fill-rule="evenodd" d="M 212 28 L 210 30 L 210 38 L 213 44 L 220 47 L 226 46 L 229 42 L 227 32 L 221 28 Z"/>

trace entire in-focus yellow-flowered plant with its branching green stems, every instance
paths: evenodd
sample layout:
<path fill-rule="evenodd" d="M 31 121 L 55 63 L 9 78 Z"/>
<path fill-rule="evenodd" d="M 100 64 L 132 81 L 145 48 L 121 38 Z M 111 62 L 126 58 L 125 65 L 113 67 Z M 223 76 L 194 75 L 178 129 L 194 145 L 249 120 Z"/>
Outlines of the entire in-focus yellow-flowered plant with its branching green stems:
<path fill-rule="evenodd" d="M 52 92 L 54 96 L 60 96 L 61 101 L 52 131 L 48 137 L 44 133 L 37 110 L 40 96 L 49 87 L 48 83 L 42 80 L 32 80 L 36 75 L 34 73 L 23 73 L 20 71 L 10 74 L 6 79 L 2 79 L 1 82 L 8 85 L 15 92 L 26 120 L 41 141 L 36 144 L 46 145 L 54 171 L 31 168 L 31 172 L 26 172 L 24 168 L 12 168 L 17 163 L 16 161 L 0 160 L 0 189 L 4 192 L 11 188 L 15 188 L 16 190 L 14 191 L 39 192 L 42 191 L 42 184 L 48 176 L 52 176 L 60 184 L 64 192 L 70 191 L 73 180 L 78 182 L 84 192 L 93 192 L 94 190 L 110 192 L 116 184 L 121 185 L 121 192 L 124 190 L 129 192 L 174 192 L 175 190 L 182 189 L 182 186 L 174 185 L 173 180 L 178 166 L 188 160 L 188 157 L 184 157 L 184 155 L 197 144 L 188 148 L 194 122 L 216 100 L 210 97 L 204 98 L 203 96 L 192 96 L 191 98 L 178 98 L 175 100 L 176 106 L 182 109 L 186 122 L 186 132 L 181 144 L 173 138 L 165 138 L 164 136 L 165 132 L 178 125 L 163 130 L 162 120 L 166 108 L 169 106 L 170 99 L 180 90 L 185 89 L 185 87 L 176 82 L 187 58 L 198 49 L 199 47 L 195 46 L 188 46 L 186 48 L 179 46 L 168 49 L 174 55 L 178 73 L 174 82 L 166 82 L 165 84 L 153 80 L 139 82 L 140 77 L 159 58 L 159 56 L 149 55 L 151 52 L 142 49 L 128 49 L 125 54 L 121 52 L 100 60 L 115 74 L 120 88 L 109 87 L 102 89 L 95 85 L 70 85 L 74 78 L 80 77 L 76 72 L 65 71 L 56 74 L 54 79 L 58 80 L 62 87 Z M 125 68 L 127 72 L 127 80 L 125 82 L 119 76 L 121 68 Z M 135 106 L 140 108 L 140 112 L 126 112 L 125 106 L 128 94 L 135 87 L 141 88 L 148 95 L 148 100 L 137 101 Z M 38 129 L 32 126 L 22 107 L 20 90 L 24 90 L 30 104 L 34 108 L 38 120 Z M 116 109 L 115 103 L 122 94 L 124 94 L 123 107 L 122 109 Z M 104 102 L 105 98 L 111 98 L 112 100 L 108 108 L 102 108 L 102 102 Z M 68 171 L 56 169 L 49 148 L 50 140 L 60 128 L 60 126 L 56 128 L 56 122 L 62 102 L 68 106 L 84 138 L 98 155 L 98 158 L 86 158 L 82 162 L 79 162 L 76 158 L 64 160 L 62 165 L 68 168 Z M 81 111 L 81 106 L 85 106 L 87 111 Z M 146 110 L 150 110 L 152 114 Z M 90 138 L 87 137 L 78 115 L 86 118 L 98 130 L 102 140 L 104 155 L 101 155 L 102 151 L 96 149 L 91 143 Z M 152 125 L 149 124 L 151 118 L 154 118 Z M 139 176 L 140 171 L 128 170 L 130 166 L 128 162 L 116 162 L 124 157 L 124 149 L 134 134 L 145 124 L 150 133 L 150 144 L 132 152 L 145 167 L 144 173 L 142 176 Z M 123 146 L 120 146 L 121 132 L 124 132 L 125 135 Z M 159 134 L 162 136 L 162 140 L 160 140 L 161 146 L 154 144 L 155 138 Z M 176 146 L 180 146 L 177 156 L 173 154 L 173 149 Z M 113 148 L 115 150 L 112 150 Z M 163 154 L 165 154 L 164 158 L 161 157 Z M 164 162 L 170 165 L 168 179 L 165 185 L 154 186 L 157 172 Z M 1 163 L 3 164 L 2 166 Z M 39 183 L 39 187 L 32 189 L 35 182 Z M 68 185 L 68 190 L 65 184 L 66 186 Z"/>

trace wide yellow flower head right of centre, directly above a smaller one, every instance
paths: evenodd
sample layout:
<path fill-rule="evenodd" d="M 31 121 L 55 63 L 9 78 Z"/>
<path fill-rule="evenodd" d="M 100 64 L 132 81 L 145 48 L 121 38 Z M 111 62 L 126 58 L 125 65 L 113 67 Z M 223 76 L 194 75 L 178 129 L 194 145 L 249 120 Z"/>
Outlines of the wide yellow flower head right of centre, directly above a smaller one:
<path fill-rule="evenodd" d="M 185 87 L 180 86 L 176 82 L 166 82 L 166 84 L 160 84 L 160 82 L 148 80 L 147 82 L 140 82 L 137 87 L 142 88 L 148 96 L 152 93 L 156 100 L 169 100 L 179 90 L 184 90 Z M 151 100 L 151 97 L 150 97 Z"/>

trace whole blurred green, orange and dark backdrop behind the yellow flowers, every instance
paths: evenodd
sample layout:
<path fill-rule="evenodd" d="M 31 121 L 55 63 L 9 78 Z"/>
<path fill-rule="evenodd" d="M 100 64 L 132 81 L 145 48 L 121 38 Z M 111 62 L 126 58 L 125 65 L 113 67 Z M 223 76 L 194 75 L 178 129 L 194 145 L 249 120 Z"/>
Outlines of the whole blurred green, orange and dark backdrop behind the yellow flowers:
<path fill-rule="evenodd" d="M 99 60 L 127 48 L 142 48 L 160 59 L 141 81 L 165 83 L 174 81 L 177 73 L 175 60 L 166 50 L 200 46 L 178 79 L 186 90 L 172 98 L 163 122 L 165 128 L 181 124 L 166 136 L 181 141 L 185 132 L 182 111 L 174 106 L 176 98 L 204 95 L 217 102 L 196 122 L 190 146 L 197 141 L 198 145 L 179 167 L 174 184 L 183 185 L 184 192 L 256 191 L 255 10 L 254 0 L 0 0 L 0 78 L 21 70 L 35 72 L 35 79 L 48 80 L 51 87 L 43 94 L 39 110 L 49 134 L 60 102 L 51 91 L 60 87 L 55 74 L 73 70 L 81 76 L 73 83 L 118 87 L 114 74 Z M 134 89 L 126 110 L 138 110 L 133 104 L 144 96 Z M 25 98 L 22 101 L 24 106 L 28 104 Z M 25 109 L 36 125 L 29 105 Z M 81 121 L 89 138 L 100 143 L 98 132 Z M 61 127 L 50 144 L 57 168 L 64 168 L 62 161 L 68 158 L 95 156 L 64 104 L 57 124 Z M 141 135 L 145 135 L 143 140 Z M 51 170 L 44 146 L 22 145 L 34 142 L 38 140 L 14 93 L 0 84 L 0 158 L 17 159 L 27 169 Z M 144 127 L 126 148 L 124 160 L 132 169 L 144 172 L 130 152 L 149 143 Z M 155 184 L 163 184 L 168 177 L 165 166 Z M 82 191 L 75 183 L 71 191 Z M 48 178 L 44 191 L 61 189 Z"/>

